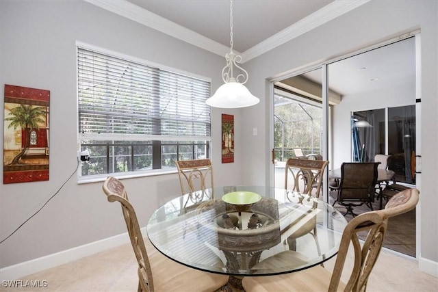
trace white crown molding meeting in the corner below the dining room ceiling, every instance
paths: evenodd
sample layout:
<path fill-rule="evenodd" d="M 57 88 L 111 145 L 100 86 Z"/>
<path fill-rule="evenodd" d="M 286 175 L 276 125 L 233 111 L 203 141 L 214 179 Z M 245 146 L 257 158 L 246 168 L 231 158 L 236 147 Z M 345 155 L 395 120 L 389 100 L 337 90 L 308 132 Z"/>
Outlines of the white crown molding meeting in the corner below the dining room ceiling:
<path fill-rule="evenodd" d="M 209 51 L 211 53 L 215 53 L 220 56 L 224 56 L 226 53 L 229 53 L 229 47 L 220 44 L 219 42 L 215 42 L 201 34 L 198 34 L 190 29 L 187 29 L 177 23 L 169 21 L 162 16 L 149 12 L 148 10 L 139 8 L 137 5 L 125 0 L 118 1 L 105 1 L 105 0 L 84 0 L 88 3 L 96 5 L 100 8 L 118 14 L 120 16 L 131 19 L 132 21 L 136 21 L 141 23 L 142 25 L 146 25 L 147 27 L 151 27 L 152 29 L 156 29 L 157 31 L 162 32 L 163 34 L 167 34 L 168 36 L 172 36 L 173 38 L 177 38 L 182 40 L 183 42 L 188 42 L 196 47 Z M 371 0 L 349 0 L 349 1 L 341 1 L 335 0 L 329 5 L 324 6 L 317 12 L 303 18 L 298 21 L 294 25 L 283 29 L 274 36 L 259 42 L 254 47 L 244 51 L 244 53 L 240 53 L 235 51 L 237 55 L 242 56 L 242 63 L 248 62 L 250 59 L 258 57 L 263 53 L 266 53 L 276 47 L 279 47 L 281 44 L 285 42 L 289 42 L 302 34 L 305 34 L 307 31 L 311 31 L 315 27 L 323 25 L 328 21 L 331 21 L 342 14 L 350 12 L 359 6 L 368 3 Z"/>

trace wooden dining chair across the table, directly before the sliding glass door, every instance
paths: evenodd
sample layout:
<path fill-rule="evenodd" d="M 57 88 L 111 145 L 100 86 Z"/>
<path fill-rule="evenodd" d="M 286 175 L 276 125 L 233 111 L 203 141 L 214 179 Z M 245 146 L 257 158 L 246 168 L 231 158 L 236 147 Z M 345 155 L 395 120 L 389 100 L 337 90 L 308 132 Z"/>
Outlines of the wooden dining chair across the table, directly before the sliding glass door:
<path fill-rule="evenodd" d="M 328 164 L 329 161 L 325 160 L 287 159 L 285 165 L 285 189 L 288 190 L 289 200 L 292 200 L 291 196 L 294 197 L 295 192 L 297 193 L 296 196 L 308 195 L 307 201 L 310 201 L 312 197 L 318 199 L 322 186 L 322 177 Z M 291 178 L 290 180 L 288 179 L 289 177 Z M 290 181 L 293 181 L 292 187 L 289 184 Z M 303 200 L 304 197 L 298 198 L 298 203 L 302 204 Z M 315 239 L 318 254 L 321 254 L 318 240 L 315 238 L 317 236 L 315 216 L 311 217 L 301 228 L 298 228 L 292 235 L 287 237 L 289 250 L 296 250 L 296 239 L 307 234 L 312 235 L 313 239 Z"/>

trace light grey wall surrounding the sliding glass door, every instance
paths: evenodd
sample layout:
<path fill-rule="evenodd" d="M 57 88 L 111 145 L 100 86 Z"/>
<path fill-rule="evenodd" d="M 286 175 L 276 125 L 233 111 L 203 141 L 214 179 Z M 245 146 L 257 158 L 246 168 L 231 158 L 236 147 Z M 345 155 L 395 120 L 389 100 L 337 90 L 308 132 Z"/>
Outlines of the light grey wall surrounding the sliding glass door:
<path fill-rule="evenodd" d="M 322 64 L 347 53 L 421 29 L 422 92 L 422 188 L 419 209 L 422 225 L 420 268 L 438 276 L 438 2 L 370 1 L 281 47 L 245 63 L 248 88 L 261 103 L 242 110 L 246 129 L 257 127 L 259 135 L 242 131 L 248 151 L 242 164 L 253 170 L 242 173 L 244 184 L 270 181 L 270 92 L 268 80 Z M 257 117 L 257 118 L 254 118 Z M 427 126 L 425 126 L 427 125 Z M 257 147 L 255 147 L 257 145 Z M 348 150 L 350 152 L 350 150 Z M 418 152 L 418 149 L 417 149 Z"/>

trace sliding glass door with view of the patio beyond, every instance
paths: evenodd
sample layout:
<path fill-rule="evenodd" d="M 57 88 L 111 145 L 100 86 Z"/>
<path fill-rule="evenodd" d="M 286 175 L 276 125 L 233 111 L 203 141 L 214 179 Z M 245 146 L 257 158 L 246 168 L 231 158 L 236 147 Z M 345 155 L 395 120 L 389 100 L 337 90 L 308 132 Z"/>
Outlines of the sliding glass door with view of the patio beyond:
<path fill-rule="evenodd" d="M 376 155 L 390 155 L 388 168 L 394 170 L 398 183 L 415 187 L 421 182 L 420 177 L 415 178 L 415 155 L 419 152 L 415 144 L 419 133 L 415 122 L 419 118 L 415 116 L 419 99 L 415 42 L 415 37 L 397 40 L 274 82 L 272 162 L 276 187 L 284 185 L 287 158 L 307 158 L 315 153 L 329 160 L 329 171 L 341 168 L 344 162 L 374 161 Z M 308 84 L 298 86 L 303 80 Z M 323 96 L 328 96 L 326 101 Z M 329 193 L 327 185 L 325 194 Z M 333 203 L 335 199 L 324 196 L 324 200 Z M 379 202 L 375 204 L 378 209 Z M 370 209 L 360 210 L 365 211 Z M 416 256 L 416 217 L 415 211 L 412 213 L 407 220 L 400 218 L 405 220 L 398 223 L 402 228 L 391 230 L 387 236 L 391 243 L 385 242 L 385 246 Z"/>

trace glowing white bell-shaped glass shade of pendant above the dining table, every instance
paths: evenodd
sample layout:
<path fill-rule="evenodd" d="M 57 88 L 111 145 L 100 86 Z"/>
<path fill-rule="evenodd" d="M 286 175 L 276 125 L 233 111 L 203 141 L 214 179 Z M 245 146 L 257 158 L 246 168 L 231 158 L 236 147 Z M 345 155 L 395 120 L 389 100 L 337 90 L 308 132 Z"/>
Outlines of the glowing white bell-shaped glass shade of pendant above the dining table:
<path fill-rule="evenodd" d="M 242 83 L 230 81 L 224 83 L 216 90 L 214 96 L 205 101 L 210 107 L 222 107 L 225 109 L 250 107 L 257 105 L 259 98 L 253 96 Z"/>

